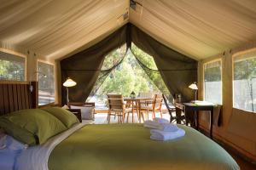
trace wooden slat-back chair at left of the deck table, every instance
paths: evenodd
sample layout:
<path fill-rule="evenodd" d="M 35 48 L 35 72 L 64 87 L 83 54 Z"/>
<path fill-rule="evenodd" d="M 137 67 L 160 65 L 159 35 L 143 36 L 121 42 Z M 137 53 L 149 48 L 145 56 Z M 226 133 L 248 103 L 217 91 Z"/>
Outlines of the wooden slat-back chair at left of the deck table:
<path fill-rule="evenodd" d="M 128 110 L 125 105 L 123 95 L 121 94 L 108 94 L 108 117 L 107 121 L 110 122 L 110 117 L 118 116 L 118 122 L 124 122 L 125 114 Z"/>

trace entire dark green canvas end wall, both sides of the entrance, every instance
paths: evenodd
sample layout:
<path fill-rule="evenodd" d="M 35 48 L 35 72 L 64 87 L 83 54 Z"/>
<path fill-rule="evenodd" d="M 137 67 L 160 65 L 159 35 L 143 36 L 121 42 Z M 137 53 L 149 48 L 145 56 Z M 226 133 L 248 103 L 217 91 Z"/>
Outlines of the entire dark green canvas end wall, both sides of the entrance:
<path fill-rule="evenodd" d="M 197 61 L 166 47 L 129 23 L 92 47 L 61 60 L 62 83 L 66 81 L 67 77 L 77 82 L 75 87 L 69 88 L 70 101 L 85 101 L 91 92 L 96 92 L 109 72 L 121 63 L 125 55 L 120 56 L 123 58 L 117 65 L 102 71 L 105 56 L 125 43 L 127 48 L 131 48 L 131 42 L 154 58 L 158 68 L 157 74 L 160 73 L 172 95 L 182 94 L 183 101 L 195 99 L 194 92 L 188 87 L 190 83 L 197 82 Z M 138 62 L 141 61 L 139 56 L 136 58 Z M 150 72 L 150 68 L 143 66 L 143 63 L 139 62 L 139 64 L 144 71 Z M 150 74 L 148 75 L 150 78 Z M 93 88 L 96 81 L 98 83 Z M 152 81 L 154 82 L 154 80 Z M 62 104 L 67 101 L 66 93 L 66 88 L 62 87 Z"/>

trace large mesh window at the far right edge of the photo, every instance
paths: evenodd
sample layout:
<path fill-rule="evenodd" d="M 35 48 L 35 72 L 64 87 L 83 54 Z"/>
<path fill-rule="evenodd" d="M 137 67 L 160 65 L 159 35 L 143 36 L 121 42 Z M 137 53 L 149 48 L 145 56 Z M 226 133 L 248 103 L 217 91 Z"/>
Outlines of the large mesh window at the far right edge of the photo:
<path fill-rule="evenodd" d="M 233 107 L 256 112 L 256 51 L 233 58 Z"/>

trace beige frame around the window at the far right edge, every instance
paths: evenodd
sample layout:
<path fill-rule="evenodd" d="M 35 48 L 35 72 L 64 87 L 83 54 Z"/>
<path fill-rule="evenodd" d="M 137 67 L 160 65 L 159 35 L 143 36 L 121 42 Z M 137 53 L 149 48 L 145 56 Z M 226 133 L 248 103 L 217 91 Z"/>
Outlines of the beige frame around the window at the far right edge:
<path fill-rule="evenodd" d="M 235 54 L 232 54 L 232 108 L 233 109 L 237 109 L 237 110 L 241 110 L 241 111 L 246 111 L 244 109 L 241 109 L 241 108 L 236 108 L 234 106 L 234 101 L 235 101 L 235 92 L 234 92 L 234 77 L 235 77 L 235 58 L 236 57 L 239 57 L 243 54 L 248 54 L 248 53 L 252 53 L 252 52 L 256 52 L 256 48 L 250 48 L 250 49 L 247 49 L 247 50 L 243 50 L 243 51 L 239 51 L 239 52 L 236 52 Z M 256 58 L 255 57 L 247 57 L 246 59 L 253 59 L 253 58 Z M 251 113 L 256 113 L 256 111 L 247 111 L 247 112 L 251 112 Z"/>

